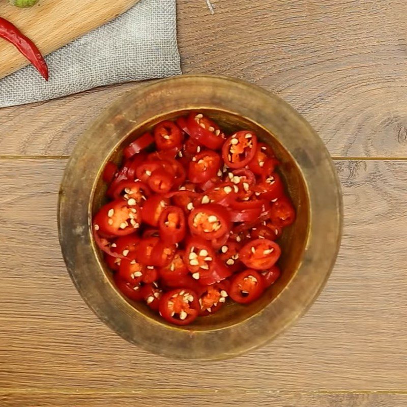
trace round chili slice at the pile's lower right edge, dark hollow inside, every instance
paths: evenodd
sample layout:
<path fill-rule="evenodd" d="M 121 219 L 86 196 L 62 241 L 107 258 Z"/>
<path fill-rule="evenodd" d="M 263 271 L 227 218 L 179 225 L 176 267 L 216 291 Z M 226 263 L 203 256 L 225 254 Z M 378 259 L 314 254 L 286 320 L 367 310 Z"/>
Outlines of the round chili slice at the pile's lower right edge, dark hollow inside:
<path fill-rule="evenodd" d="M 241 304 L 257 300 L 265 289 L 263 277 L 255 270 L 245 270 L 232 279 L 229 296 Z"/>

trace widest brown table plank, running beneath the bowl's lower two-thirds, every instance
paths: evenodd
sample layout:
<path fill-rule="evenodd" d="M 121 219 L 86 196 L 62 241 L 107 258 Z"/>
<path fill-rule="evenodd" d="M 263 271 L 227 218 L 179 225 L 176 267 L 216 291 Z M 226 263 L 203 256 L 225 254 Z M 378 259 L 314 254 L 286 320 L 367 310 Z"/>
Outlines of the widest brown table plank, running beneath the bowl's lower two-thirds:
<path fill-rule="evenodd" d="M 273 343 L 210 364 L 173 362 L 129 345 L 81 300 L 57 242 L 65 164 L 0 160 L 3 392 L 407 390 L 407 162 L 337 162 L 344 236 L 326 289 Z"/>

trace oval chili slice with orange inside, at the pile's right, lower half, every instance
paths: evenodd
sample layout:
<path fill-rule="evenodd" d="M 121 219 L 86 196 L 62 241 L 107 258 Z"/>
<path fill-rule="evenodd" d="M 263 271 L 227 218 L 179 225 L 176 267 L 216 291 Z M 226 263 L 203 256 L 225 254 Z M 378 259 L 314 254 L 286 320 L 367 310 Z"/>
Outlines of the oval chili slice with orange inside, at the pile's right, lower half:
<path fill-rule="evenodd" d="M 255 239 L 246 243 L 239 251 L 243 263 L 255 270 L 274 266 L 281 254 L 280 246 L 269 239 Z"/>

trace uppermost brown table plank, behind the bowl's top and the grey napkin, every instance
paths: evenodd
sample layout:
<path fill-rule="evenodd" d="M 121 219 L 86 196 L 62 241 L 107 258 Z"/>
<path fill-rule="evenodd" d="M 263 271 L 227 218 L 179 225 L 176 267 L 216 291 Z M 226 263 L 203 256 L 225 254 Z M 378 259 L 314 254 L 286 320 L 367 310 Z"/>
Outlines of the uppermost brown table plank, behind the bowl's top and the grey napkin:
<path fill-rule="evenodd" d="M 276 92 L 333 156 L 407 157 L 403 0 L 178 0 L 184 73 L 236 76 Z M 138 83 L 0 110 L 0 154 L 65 155 Z"/>

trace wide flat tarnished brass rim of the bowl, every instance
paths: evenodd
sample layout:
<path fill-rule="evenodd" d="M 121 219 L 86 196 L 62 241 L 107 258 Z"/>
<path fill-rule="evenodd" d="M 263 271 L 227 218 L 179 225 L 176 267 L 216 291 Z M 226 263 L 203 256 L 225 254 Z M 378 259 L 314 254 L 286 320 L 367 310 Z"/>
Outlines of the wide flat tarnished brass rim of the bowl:
<path fill-rule="evenodd" d="M 117 148 L 134 128 L 143 123 L 140 121 L 136 125 L 134 121 L 123 117 L 121 114 L 123 109 L 120 106 L 138 103 L 137 100 L 143 99 L 147 104 L 153 105 L 153 101 L 166 100 L 165 98 L 173 97 L 174 93 L 188 89 L 188 86 L 201 86 L 201 91 L 208 94 L 201 95 L 201 100 L 196 99 L 185 106 L 185 109 L 178 110 L 209 108 L 238 114 L 265 127 L 283 146 L 288 145 L 287 152 L 301 171 L 311 202 L 309 234 L 304 257 L 295 278 L 289 281 L 277 298 L 264 310 L 245 320 L 243 326 L 240 324 L 209 332 L 195 331 L 193 326 L 180 329 L 158 324 L 154 319 L 134 311 L 131 304 L 117 295 L 105 274 L 103 272 L 97 274 L 96 269 L 101 271 L 103 266 L 96 255 L 91 237 L 91 208 L 96 180 L 99 179 L 104 164 L 114 148 Z M 212 89 L 212 93 L 209 89 Z M 210 105 L 210 102 L 202 102 L 205 98 L 210 99 L 211 95 L 220 98 L 219 92 L 222 90 L 229 90 L 235 96 L 245 92 L 247 99 L 255 98 L 254 105 L 245 107 L 244 103 L 230 103 L 232 105 L 230 110 L 227 106 L 220 109 L 219 106 L 215 106 L 216 103 Z M 257 112 L 260 110 L 259 106 L 263 109 Z M 141 105 L 139 109 L 142 109 Z M 167 111 L 159 113 L 158 108 L 156 112 L 156 115 L 167 113 Z M 254 118 L 253 114 L 258 117 Z M 276 134 L 273 118 L 277 115 L 281 118 L 282 125 L 288 126 L 293 131 L 297 130 L 301 137 L 289 137 L 288 133 L 281 132 Z M 118 124 L 124 125 L 125 131 L 116 139 L 114 133 L 111 137 L 113 140 L 109 140 L 108 148 L 103 145 L 102 164 L 98 167 L 91 162 L 90 171 L 84 171 L 88 169 L 83 163 L 84 151 L 94 141 L 95 134 L 101 131 L 108 133 Z M 297 138 L 303 141 L 300 149 Z M 310 173 L 316 177 L 315 180 L 311 181 L 310 177 L 307 177 Z M 323 190 L 324 194 L 318 194 L 318 190 Z M 150 352 L 171 358 L 209 361 L 231 358 L 264 345 L 294 324 L 308 310 L 321 293 L 334 266 L 340 247 L 343 209 L 340 183 L 330 154 L 321 138 L 293 107 L 277 95 L 240 79 L 213 75 L 181 75 L 144 84 L 127 92 L 104 109 L 84 131 L 64 172 L 57 217 L 60 244 L 70 277 L 84 301 L 106 325 L 123 338 Z M 323 229 L 325 234 L 322 233 Z M 317 253 L 322 248 L 323 255 Z M 312 263 L 316 259 L 320 262 L 320 267 L 313 270 Z M 310 276 L 312 279 L 309 279 Z M 307 286 L 307 290 L 293 296 L 295 288 L 299 286 Z M 171 343 L 166 343 L 166 346 L 160 342 L 163 326 L 176 338 Z M 211 345 L 203 346 L 208 340 L 211 341 Z M 181 344 L 183 345 L 180 346 Z"/>

